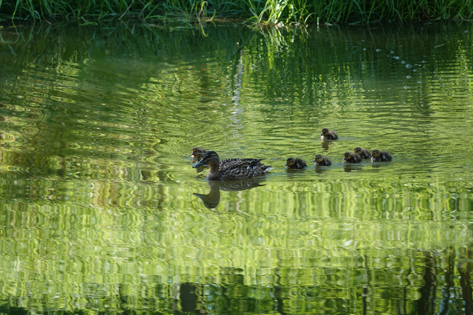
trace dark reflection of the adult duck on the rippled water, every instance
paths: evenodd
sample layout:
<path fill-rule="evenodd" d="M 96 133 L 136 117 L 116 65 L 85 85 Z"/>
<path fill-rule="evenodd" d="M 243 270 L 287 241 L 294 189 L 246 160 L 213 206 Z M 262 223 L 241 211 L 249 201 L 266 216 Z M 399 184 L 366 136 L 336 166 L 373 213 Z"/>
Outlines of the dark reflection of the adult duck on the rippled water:
<path fill-rule="evenodd" d="M 240 180 L 208 180 L 210 192 L 208 194 L 193 193 L 194 196 L 201 198 L 204 206 L 209 209 L 216 208 L 220 202 L 220 190 L 223 191 L 241 191 L 248 190 L 261 185 L 264 179 L 248 178 Z"/>

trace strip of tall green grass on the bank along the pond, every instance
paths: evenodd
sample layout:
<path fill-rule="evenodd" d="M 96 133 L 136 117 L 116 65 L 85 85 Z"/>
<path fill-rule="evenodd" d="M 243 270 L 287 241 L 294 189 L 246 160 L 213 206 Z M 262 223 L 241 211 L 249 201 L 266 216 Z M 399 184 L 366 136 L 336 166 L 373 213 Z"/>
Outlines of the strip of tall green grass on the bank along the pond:
<path fill-rule="evenodd" d="M 0 0 L 3 19 L 59 20 L 105 16 L 144 20 L 238 17 L 256 23 L 427 21 L 471 19 L 472 0 Z"/>

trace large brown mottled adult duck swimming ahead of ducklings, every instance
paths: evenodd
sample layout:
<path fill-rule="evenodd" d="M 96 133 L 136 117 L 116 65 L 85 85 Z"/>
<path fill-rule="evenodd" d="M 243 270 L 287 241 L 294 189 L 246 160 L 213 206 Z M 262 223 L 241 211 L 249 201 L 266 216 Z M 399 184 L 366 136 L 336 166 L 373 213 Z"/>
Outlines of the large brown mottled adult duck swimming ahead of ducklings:
<path fill-rule="evenodd" d="M 193 168 L 209 164 L 210 171 L 205 178 L 209 180 L 244 179 L 272 170 L 270 165 L 264 165 L 261 160 L 263 159 L 228 159 L 220 162 L 219 155 L 215 151 L 207 151 Z"/>

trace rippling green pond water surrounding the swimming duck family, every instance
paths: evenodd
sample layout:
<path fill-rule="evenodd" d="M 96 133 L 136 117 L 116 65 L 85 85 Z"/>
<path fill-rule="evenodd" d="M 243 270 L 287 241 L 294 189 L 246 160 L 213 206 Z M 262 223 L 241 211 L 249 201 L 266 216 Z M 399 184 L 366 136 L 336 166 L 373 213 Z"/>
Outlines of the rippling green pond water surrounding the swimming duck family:
<path fill-rule="evenodd" d="M 0 313 L 472 314 L 472 26 L 3 26 Z"/>

